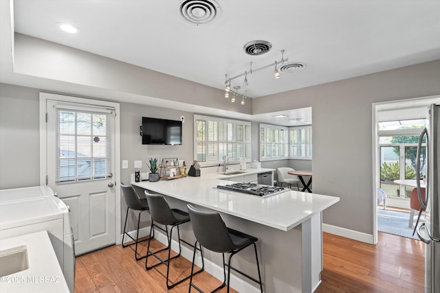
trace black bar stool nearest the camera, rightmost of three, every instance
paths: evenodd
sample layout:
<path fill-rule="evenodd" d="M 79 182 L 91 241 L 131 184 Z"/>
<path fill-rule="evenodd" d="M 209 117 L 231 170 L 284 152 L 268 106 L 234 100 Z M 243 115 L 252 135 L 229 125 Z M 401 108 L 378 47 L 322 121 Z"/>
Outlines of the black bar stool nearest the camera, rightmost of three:
<path fill-rule="evenodd" d="M 215 211 L 201 211 L 195 209 L 191 204 L 188 204 L 188 212 L 190 214 L 192 229 L 194 230 L 194 235 L 197 241 L 195 242 L 195 247 L 197 242 L 203 248 L 214 251 L 215 253 L 221 253 L 223 258 L 223 283 L 219 287 L 215 288 L 212 292 L 215 292 L 225 286 L 226 283 L 226 272 L 225 268 L 228 267 L 228 292 L 230 287 L 230 270 L 239 272 L 239 274 L 247 277 L 248 279 L 254 281 L 260 285 L 261 293 L 263 293 L 263 283 L 261 282 L 261 273 L 259 266 L 259 256 L 256 253 L 255 242 L 258 241 L 256 237 L 251 235 L 233 230 L 225 226 L 225 222 L 221 218 L 221 215 Z M 259 280 L 250 277 L 248 274 L 237 270 L 231 266 L 231 259 L 236 253 L 239 253 L 244 248 L 254 245 L 256 268 L 259 272 Z M 202 250 L 200 248 L 200 250 Z M 225 253 L 230 253 L 228 264 L 225 264 Z M 197 291 L 202 292 L 197 286 L 192 283 L 192 271 L 194 270 L 196 251 L 194 250 L 194 255 L 192 256 L 192 268 L 190 277 L 190 288 L 188 292 L 191 292 L 191 287 L 194 287 Z M 203 252 L 201 253 L 203 261 Z"/>

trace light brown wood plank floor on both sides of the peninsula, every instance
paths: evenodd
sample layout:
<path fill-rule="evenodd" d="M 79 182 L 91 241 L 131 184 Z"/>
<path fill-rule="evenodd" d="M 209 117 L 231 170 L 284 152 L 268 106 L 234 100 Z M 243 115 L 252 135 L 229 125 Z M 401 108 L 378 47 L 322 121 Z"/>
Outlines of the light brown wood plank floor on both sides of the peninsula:
<path fill-rule="evenodd" d="M 146 251 L 144 244 L 142 253 Z M 371 245 L 323 233 L 323 244 L 324 270 L 318 293 L 424 292 L 421 241 L 379 233 L 379 244 Z M 158 248 L 161 244 L 154 245 Z M 173 281 L 189 274 L 190 261 L 179 257 L 171 263 Z M 166 290 L 165 277 L 165 266 L 147 272 L 144 259 L 135 261 L 134 246 L 111 246 L 76 258 L 75 292 L 188 292 L 188 281 Z M 195 282 L 205 292 L 221 283 L 206 272 L 198 274 Z"/>

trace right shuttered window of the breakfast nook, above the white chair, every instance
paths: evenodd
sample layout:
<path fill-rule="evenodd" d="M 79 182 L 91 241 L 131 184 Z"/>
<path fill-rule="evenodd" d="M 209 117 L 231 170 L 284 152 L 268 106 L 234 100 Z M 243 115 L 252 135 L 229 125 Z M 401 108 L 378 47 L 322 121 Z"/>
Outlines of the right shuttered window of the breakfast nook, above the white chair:
<path fill-rule="evenodd" d="M 289 157 L 311 159 L 311 126 L 289 128 Z"/>

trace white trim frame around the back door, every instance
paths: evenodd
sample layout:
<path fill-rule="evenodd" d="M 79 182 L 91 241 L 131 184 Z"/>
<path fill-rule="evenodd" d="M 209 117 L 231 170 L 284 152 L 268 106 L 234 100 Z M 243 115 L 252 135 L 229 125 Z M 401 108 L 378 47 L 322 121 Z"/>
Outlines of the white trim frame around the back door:
<path fill-rule="evenodd" d="M 120 104 L 115 102 L 85 99 L 67 95 L 56 95 L 40 92 L 40 185 L 46 185 L 47 174 L 47 133 L 46 133 L 46 104 L 47 99 L 61 102 L 85 104 L 85 106 L 109 107 L 115 109 L 115 235 L 121 235 L 121 191 L 118 184 L 121 182 L 121 150 L 120 150 Z M 115 237 L 115 244 L 121 244 L 122 237 Z"/>

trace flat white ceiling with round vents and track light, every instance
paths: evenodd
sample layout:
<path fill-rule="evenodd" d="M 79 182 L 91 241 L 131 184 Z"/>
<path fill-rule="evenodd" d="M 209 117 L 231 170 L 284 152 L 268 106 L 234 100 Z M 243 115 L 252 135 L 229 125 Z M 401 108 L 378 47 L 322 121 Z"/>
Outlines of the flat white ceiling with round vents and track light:
<path fill-rule="evenodd" d="M 287 63 L 307 65 L 277 80 L 274 66 L 254 71 L 250 97 L 440 59 L 440 1 L 217 0 L 219 16 L 206 25 L 184 21 L 182 2 L 15 0 L 14 30 L 217 89 L 250 62 L 273 65 L 281 49 Z M 59 22 L 80 34 L 61 32 Z M 252 40 L 272 50 L 249 56 L 243 46 Z M 232 81 L 241 93 L 243 79 Z"/>

